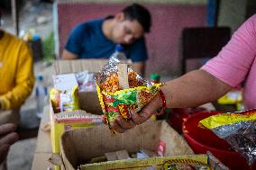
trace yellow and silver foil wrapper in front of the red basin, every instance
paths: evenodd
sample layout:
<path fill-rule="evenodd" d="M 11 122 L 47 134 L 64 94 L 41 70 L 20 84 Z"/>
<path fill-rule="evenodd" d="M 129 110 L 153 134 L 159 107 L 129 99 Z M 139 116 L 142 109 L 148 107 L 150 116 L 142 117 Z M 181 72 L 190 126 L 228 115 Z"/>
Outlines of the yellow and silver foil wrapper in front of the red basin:
<path fill-rule="evenodd" d="M 225 139 L 251 166 L 256 159 L 256 110 L 223 113 L 200 121 L 219 138 Z"/>

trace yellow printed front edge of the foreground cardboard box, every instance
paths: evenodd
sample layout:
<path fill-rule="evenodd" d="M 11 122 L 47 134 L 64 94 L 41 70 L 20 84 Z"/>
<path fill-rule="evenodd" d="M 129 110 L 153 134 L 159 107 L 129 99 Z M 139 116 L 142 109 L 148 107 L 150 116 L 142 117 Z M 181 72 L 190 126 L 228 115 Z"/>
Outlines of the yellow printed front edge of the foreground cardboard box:
<path fill-rule="evenodd" d="M 169 169 L 191 169 L 193 166 L 195 169 L 210 170 L 207 164 L 206 155 L 191 155 L 181 157 L 151 157 L 143 159 L 125 159 L 117 161 L 108 161 L 97 164 L 87 164 L 80 166 L 81 170 L 105 170 L 105 169 L 157 169 L 157 170 L 169 170 Z M 187 168 L 186 168 L 187 167 Z"/>

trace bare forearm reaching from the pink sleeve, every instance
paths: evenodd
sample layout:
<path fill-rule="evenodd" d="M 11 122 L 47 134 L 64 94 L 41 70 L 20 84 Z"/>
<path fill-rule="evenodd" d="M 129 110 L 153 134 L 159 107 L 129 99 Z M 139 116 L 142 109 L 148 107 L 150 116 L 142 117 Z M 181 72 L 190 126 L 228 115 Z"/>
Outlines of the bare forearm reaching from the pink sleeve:
<path fill-rule="evenodd" d="M 215 76 L 199 69 L 169 81 L 161 90 L 166 96 L 167 107 L 185 108 L 213 102 L 231 88 Z"/>

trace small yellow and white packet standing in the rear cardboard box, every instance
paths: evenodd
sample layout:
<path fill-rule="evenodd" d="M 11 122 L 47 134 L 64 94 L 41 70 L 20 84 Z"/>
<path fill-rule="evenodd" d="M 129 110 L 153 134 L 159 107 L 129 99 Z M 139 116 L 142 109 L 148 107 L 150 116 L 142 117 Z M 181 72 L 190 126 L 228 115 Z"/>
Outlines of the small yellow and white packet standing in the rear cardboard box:
<path fill-rule="evenodd" d="M 50 90 L 50 102 L 55 113 L 78 110 L 78 86 L 74 86 L 70 91 L 52 88 Z"/>

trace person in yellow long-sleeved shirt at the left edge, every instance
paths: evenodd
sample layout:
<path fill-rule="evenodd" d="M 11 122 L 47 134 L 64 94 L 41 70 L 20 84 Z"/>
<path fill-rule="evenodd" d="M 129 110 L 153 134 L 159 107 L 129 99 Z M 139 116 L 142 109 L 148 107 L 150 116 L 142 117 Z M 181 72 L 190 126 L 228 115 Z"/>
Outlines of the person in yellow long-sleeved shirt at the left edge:
<path fill-rule="evenodd" d="M 32 66 L 28 45 L 0 28 L 0 127 L 7 123 L 18 125 L 20 107 L 32 93 L 35 81 Z M 0 170 L 5 169 L 6 159 L 0 163 Z"/>

